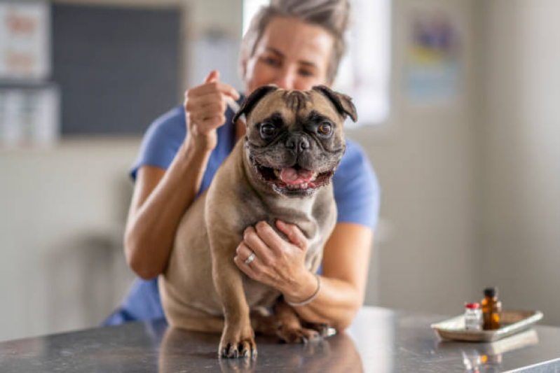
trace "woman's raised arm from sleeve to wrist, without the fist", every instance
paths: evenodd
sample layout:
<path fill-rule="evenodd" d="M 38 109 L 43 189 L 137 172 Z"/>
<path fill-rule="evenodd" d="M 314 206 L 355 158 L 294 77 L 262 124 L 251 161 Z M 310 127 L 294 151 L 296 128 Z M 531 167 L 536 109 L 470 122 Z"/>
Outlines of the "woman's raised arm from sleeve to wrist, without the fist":
<path fill-rule="evenodd" d="M 183 144 L 169 169 L 138 169 L 125 229 L 125 257 L 142 279 L 153 279 L 165 269 L 177 226 L 200 188 L 208 157 Z"/>

